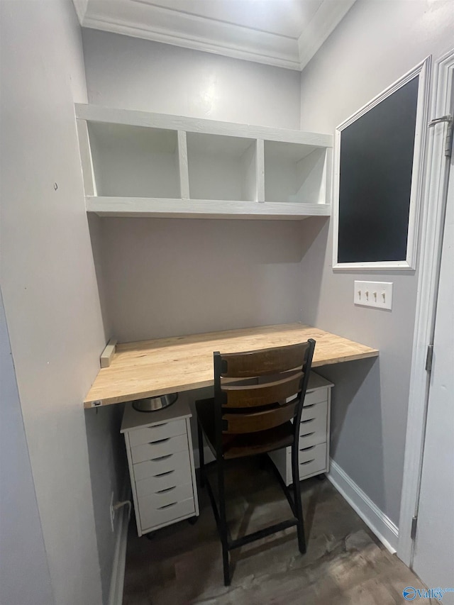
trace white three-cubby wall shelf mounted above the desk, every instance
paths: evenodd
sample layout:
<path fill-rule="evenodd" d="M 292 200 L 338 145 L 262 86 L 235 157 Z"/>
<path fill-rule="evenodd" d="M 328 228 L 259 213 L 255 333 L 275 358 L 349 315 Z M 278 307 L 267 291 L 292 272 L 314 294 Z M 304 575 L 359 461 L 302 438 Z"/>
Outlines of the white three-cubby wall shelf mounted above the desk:
<path fill-rule="evenodd" d="M 76 105 L 87 212 L 329 216 L 331 135 Z"/>

